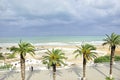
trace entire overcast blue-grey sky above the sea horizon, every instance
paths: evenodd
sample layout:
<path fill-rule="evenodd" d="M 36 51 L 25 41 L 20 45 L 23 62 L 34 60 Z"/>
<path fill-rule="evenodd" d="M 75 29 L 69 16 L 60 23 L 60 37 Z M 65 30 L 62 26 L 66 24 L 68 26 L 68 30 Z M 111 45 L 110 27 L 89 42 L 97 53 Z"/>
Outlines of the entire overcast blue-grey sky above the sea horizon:
<path fill-rule="evenodd" d="M 0 0 L 0 37 L 120 34 L 120 0 Z"/>

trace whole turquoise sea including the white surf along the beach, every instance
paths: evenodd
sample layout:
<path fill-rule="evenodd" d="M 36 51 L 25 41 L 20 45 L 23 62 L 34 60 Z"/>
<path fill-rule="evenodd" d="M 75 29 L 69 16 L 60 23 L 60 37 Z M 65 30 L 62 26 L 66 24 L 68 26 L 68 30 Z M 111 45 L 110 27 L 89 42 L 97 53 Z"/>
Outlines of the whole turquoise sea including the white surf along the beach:
<path fill-rule="evenodd" d="M 80 45 L 90 43 L 99 45 L 105 36 L 38 36 L 38 37 L 0 37 L 0 46 L 17 44 L 20 41 L 35 45 Z"/>

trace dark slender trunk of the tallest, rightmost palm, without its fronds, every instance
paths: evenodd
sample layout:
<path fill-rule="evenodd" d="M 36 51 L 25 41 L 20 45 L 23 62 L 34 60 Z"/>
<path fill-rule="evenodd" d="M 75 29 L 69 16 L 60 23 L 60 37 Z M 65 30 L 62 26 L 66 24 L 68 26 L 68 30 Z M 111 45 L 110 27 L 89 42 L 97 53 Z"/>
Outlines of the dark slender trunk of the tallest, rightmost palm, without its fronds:
<path fill-rule="evenodd" d="M 112 67 L 113 67 L 113 62 L 114 62 L 114 54 L 115 54 L 115 46 L 111 47 L 111 56 L 110 56 L 110 79 L 112 79 Z"/>

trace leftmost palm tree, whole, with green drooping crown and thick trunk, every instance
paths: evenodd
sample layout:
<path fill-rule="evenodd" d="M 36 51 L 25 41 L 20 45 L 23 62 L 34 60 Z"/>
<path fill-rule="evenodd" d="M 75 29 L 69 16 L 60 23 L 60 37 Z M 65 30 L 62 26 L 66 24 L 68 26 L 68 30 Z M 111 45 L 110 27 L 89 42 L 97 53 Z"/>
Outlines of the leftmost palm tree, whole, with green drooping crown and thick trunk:
<path fill-rule="evenodd" d="M 18 47 L 11 47 L 10 51 L 13 52 L 13 54 L 19 54 L 20 55 L 20 64 L 21 64 L 21 78 L 22 80 L 25 80 L 25 56 L 27 53 L 30 53 L 30 55 L 34 55 L 34 46 L 27 42 L 18 43 Z"/>

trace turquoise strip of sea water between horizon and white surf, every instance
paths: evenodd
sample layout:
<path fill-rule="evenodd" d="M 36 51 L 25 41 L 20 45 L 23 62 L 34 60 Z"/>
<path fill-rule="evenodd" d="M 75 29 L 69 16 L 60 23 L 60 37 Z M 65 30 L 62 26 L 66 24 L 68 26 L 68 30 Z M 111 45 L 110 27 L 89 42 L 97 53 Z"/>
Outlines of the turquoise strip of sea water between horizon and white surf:
<path fill-rule="evenodd" d="M 105 36 L 40 36 L 40 37 L 2 37 L 0 43 L 18 43 L 20 40 L 31 43 L 102 41 Z"/>

